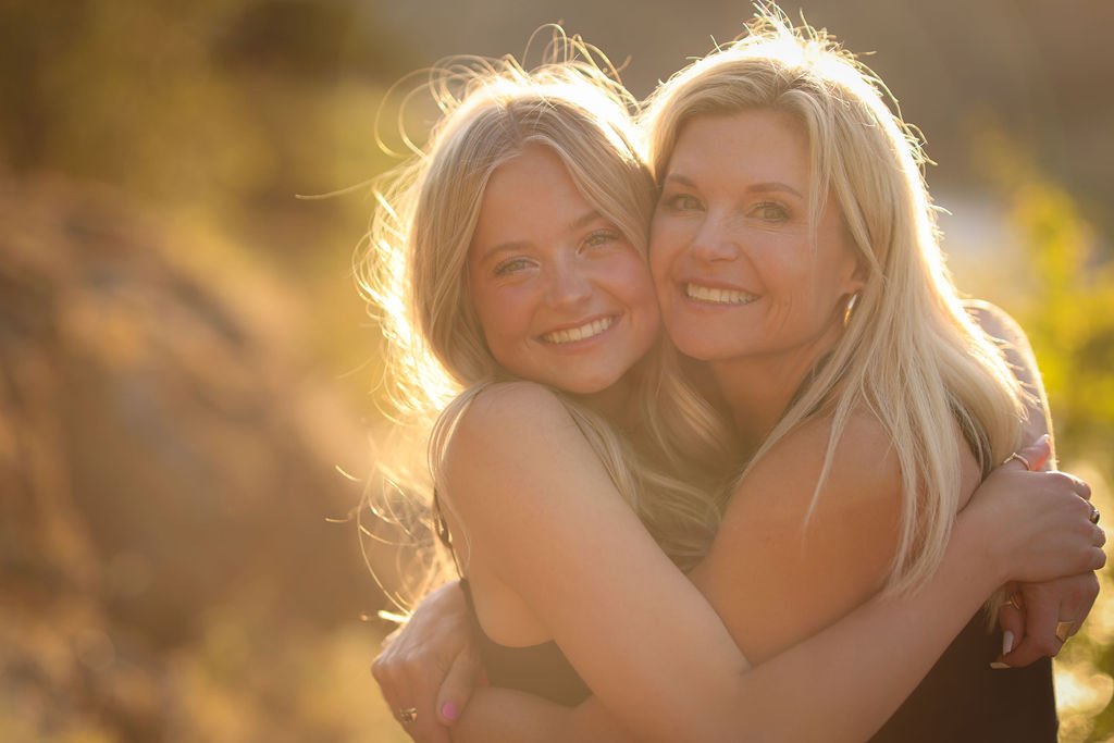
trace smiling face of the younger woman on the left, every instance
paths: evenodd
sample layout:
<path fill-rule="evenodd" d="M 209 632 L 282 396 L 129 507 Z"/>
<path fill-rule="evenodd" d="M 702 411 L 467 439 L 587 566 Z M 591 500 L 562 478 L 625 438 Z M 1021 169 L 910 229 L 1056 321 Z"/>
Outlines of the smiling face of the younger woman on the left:
<path fill-rule="evenodd" d="M 528 146 L 491 175 L 468 283 L 495 359 L 522 379 L 568 392 L 607 390 L 657 336 L 657 302 L 639 247 L 543 146 Z"/>

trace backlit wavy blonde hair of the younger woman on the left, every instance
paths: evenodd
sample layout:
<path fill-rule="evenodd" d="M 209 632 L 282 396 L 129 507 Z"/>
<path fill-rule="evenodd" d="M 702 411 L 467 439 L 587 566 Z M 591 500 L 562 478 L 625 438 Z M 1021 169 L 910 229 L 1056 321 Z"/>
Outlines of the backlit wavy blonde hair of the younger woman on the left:
<path fill-rule="evenodd" d="M 469 58 L 430 86 L 443 115 L 417 156 L 378 192 L 361 284 L 389 341 L 387 388 L 401 422 L 434 431 L 430 470 L 468 402 L 511 379 L 491 355 L 468 290 L 467 258 L 491 174 L 527 146 L 548 148 L 594 208 L 644 250 L 655 188 L 637 149 L 634 101 L 606 62 L 557 35 L 553 61 L 527 71 L 510 58 Z M 730 448 L 719 419 L 658 349 L 637 375 L 637 449 L 600 416 L 561 395 L 623 497 L 680 564 L 702 556 L 717 507 L 702 486 Z M 452 404 L 450 401 L 455 400 Z M 430 488 L 418 488 L 428 493 Z"/>

